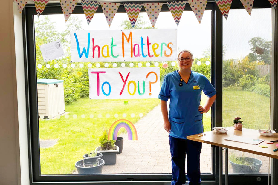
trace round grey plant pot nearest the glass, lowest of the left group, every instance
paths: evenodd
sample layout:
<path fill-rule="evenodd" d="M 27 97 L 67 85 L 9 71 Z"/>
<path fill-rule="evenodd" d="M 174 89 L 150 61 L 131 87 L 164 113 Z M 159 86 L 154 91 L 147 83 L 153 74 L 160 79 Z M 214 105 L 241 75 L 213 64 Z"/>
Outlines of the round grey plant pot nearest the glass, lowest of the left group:
<path fill-rule="evenodd" d="M 98 162 L 97 162 L 98 161 Z M 84 163 L 84 166 L 83 166 Z M 98 163 L 97 166 L 92 166 Z M 102 167 L 105 164 L 103 159 L 100 158 L 86 158 L 75 163 L 78 174 L 97 174 L 102 172 Z"/>

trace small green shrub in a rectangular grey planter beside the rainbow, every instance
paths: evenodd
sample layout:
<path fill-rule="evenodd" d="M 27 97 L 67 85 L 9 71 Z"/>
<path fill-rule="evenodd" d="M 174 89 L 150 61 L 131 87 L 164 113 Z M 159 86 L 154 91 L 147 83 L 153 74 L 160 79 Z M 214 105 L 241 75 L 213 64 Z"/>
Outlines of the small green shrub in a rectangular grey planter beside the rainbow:
<path fill-rule="evenodd" d="M 119 147 L 115 145 L 115 140 L 108 140 L 108 134 L 104 128 L 99 141 L 100 146 L 95 149 L 95 152 L 102 153 L 101 159 L 105 161 L 105 164 L 116 164 Z"/>

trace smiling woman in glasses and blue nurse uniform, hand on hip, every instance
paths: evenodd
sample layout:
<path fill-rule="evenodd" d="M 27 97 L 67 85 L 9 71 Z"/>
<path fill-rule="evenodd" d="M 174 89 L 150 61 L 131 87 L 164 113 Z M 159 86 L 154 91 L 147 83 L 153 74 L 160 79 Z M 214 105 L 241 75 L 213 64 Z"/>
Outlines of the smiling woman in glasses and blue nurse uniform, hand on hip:
<path fill-rule="evenodd" d="M 187 155 L 187 178 L 189 184 L 200 184 L 200 142 L 187 140 L 186 136 L 204 132 L 203 113 L 210 110 L 215 101 L 216 91 L 202 74 L 191 70 L 193 55 L 189 50 L 178 54 L 180 70 L 165 76 L 158 98 L 164 129 L 169 133 L 172 156 L 171 185 L 185 184 L 185 156 Z M 201 106 L 201 92 L 209 98 Z M 167 100 L 170 98 L 169 115 Z"/>

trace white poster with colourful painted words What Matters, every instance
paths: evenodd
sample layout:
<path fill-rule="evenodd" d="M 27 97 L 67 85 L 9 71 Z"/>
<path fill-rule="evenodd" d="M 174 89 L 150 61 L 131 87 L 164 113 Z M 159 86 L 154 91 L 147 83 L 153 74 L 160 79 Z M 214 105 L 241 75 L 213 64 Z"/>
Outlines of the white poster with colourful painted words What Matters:
<path fill-rule="evenodd" d="M 71 31 L 72 62 L 175 61 L 176 29 Z"/>

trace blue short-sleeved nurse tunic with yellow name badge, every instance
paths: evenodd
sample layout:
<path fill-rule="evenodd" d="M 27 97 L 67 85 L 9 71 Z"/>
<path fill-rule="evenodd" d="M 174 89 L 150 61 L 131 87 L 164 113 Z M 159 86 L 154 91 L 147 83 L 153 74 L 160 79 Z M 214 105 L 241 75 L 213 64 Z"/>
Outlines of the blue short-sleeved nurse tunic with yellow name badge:
<path fill-rule="evenodd" d="M 158 98 L 164 101 L 170 98 L 171 137 L 186 139 L 188 135 L 204 131 L 203 114 L 198 110 L 202 90 L 208 97 L 216 94 L 210 81 L 201 73 L 191 71 L 187 83 L 181 81 L 178 71 L 165 76 Z"/>

